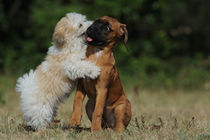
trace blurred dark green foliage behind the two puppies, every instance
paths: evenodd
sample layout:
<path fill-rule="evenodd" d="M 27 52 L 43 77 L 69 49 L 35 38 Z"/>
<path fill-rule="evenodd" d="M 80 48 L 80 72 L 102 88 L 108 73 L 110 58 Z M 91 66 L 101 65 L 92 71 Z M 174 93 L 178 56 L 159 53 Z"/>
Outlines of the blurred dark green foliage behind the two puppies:
<path fill-rule="evenodd" d="M 108 15 L 127 24 L 129 51 L 123 43 L 114 50 L 125 88 L 205 89 L 210 82 L 209 5 L 209 0 L 2 0 L 0 84 L 8 75 L 36 68 L 59 19 L 79 12 L 91 20 Z"/>

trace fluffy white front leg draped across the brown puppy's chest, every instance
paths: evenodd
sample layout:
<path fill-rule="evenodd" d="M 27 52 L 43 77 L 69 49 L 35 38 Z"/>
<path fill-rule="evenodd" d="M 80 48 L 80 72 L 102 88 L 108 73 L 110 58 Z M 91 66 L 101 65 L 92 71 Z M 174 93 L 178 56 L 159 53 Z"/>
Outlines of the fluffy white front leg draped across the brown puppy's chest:
<path fill-rule="evenodd" d="M 85 60 L 67 62 L 63 67 L 65 73 L 72 80 L 85 77 L 96 79 L 100 74 L 99 67 L 94 63 Z"/>

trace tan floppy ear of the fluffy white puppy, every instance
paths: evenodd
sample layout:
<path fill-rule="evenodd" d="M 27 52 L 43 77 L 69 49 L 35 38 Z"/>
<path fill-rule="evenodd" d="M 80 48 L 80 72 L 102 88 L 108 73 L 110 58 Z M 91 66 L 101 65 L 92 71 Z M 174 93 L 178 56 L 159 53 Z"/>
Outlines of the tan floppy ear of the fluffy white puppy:
<path fill-rule="evenodd" d="M 55 26 L 55 30 L 53 33 L 53 43 L 56 47 L 63 47 L 65 43 L 65 33 L 67 29 L 68 21 L 64 17 L 62 18 Z"/>

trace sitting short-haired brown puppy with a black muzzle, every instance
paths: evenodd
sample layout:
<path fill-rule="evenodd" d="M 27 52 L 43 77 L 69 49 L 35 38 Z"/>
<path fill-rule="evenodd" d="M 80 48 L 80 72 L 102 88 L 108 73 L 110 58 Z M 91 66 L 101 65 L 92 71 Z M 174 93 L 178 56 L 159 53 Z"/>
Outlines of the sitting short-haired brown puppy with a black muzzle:
<path fill-rule="evenodd" d="M 86 59 L 95 62 L 101 74 L 95 80 L 79 80 L 70 125 L 80 124 L 82 102 L 87 94 L 86 113 L 92 122 L 91 131 L 99 131 L 102 127 L 123 131 L 131 119 L 131 104 L 125 97 L 112 50 L 121 37 L 127 42 L 126 25 L 104 16 L 87 29 L 87 36 Z"/>

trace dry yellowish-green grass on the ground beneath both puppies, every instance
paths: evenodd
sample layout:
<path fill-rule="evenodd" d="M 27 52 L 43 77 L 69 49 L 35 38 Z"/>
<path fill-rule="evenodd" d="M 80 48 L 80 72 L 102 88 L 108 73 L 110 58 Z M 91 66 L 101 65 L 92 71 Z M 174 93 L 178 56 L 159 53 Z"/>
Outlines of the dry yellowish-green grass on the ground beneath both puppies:
<path fill-rule="evenodd" d="M 1 76 L 1 75 L 0 75 Z M 56 119 L 60 123 L 39 132 L 26 131 L 15 92 L 14 78 L 1 77 L 0 91 L 5 103 L 0 103 L 0 139 L 122 139 L 122 140 L 206 140 L 210 139 L 209 91 L 127 90 L 132 103 L 132 120 L 122 133 L 107 129 L 89 131 L 90 122 L 83 112 L 83 129 L 69 129 L 74 93 L 61 104 Z M 84 110 L 83 110 L 84 111 Z"/>

